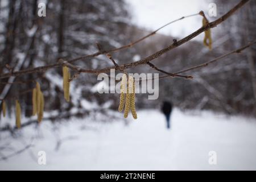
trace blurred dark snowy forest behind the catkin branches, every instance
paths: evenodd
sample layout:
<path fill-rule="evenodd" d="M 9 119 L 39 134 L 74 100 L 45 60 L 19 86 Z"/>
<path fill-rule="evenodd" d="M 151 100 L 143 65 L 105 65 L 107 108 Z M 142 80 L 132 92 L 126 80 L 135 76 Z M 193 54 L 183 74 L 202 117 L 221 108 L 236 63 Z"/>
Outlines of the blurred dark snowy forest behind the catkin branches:
<path fill-rule="evenodd" d="M 235 2 L 216 3 L 218 15 L 222 15 Z M 253 40 L 255 31 L 250 30 L 255 30 L 253 12 L 256 3 L 249 3 L 228 22 L 212 30 L 212 51 L 201 42 L 191 41 L 160 57 L 156 65 L 165 68 L 167 72 L 175 72 L 213 59 Z M 124 1 L 49 1 L 46 4 L 46 18 L 37 16 L 38 1 L 10 0 L 3 1 L 1 5 L 0 73 L 9 71 L 5 67 L 6 64 L 19 69 L 47 65 L 55 63 L 60 57 L 71 59 L 95 52 L 96 43 L 101 44 L 104 49 L 115 48 L 137 40 L 149 32 L 130 24 L 129 6 Z M 167 19 L 166 22 L 168 21 L 170 20 Z M 129 63 L 133 59 L 146 57 L 164 48 L 172 39 L 174 38 L 171 36 L 158 34 L 134 47 L 114 53 L 113 56 L 118 63 Z M 112 63 L 106 60 L 105 56 L 98 56 L 81 60 L 78 64 L 84 68 L 104 68 Z M 139 67 L 130 69 L 130 72 L 147 73 L 152 70 L 150 67 Z M 32 80 L 40 80 L 46 97 L 46 111 L 81 109 L 83 99 L 97 105 L 109 102 L 112 109 L 117 109 L 118 94 L 105 97 L 104 94 L 91 92 L 92 86 L 97 84 L 97 77 L 88 74 L 81 74 L 72 82 L 71 102 L 65 102 L 60 84 L 61 74 L 61 69 L 57 68 L 17 77 L 15 81 L 22 83 L 10 85 L 7 94 L 1 94 L 1 99 L 6 99 L 7 105 L 13 107 L 13 100 L 8 98 L 18 97 L 22 102 L 24 114 L 30 117 L 32 96 L 31 92 L 26 91 L 34 87 Z M 153 108 L 168 98 L 182 109 L 210 109 L 248 115 L 256 113 L 255 46 L 246 50 L 246 54 L 225 57 L 207 68 L 192 71 L 192 75 L 195 77 L 193 80 L 160 80 L 159 100 L 150 101 L 140 94 L 137 107 Z M 0 92 L 5 88 L 7 81 L 1 79 Z"/>

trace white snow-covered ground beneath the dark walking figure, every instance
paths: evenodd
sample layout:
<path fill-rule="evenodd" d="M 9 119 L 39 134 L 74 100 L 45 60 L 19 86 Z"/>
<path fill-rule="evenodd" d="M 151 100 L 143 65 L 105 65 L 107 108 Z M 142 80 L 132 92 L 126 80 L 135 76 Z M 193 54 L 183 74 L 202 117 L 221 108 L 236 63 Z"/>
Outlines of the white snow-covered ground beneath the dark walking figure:
<path fill-rule="evenodd" d="M 255 119 L 177 109 L 171 119 L 171 130 L 157 110 L 139 111 L 137 121 L 128 123 L 71 119 L 24 127 L 15 139 L 0 135 L 0 147 L 9 147 L 0 151 L 0 158 L 31 138 L 33 146 L 1 160 L 0 169 L 256 169 Z M 38 164 L 39 151 L 46 152 L 46 165 Z M 216 165 L 208 162 L 210 151 L 216 152 Z"/>

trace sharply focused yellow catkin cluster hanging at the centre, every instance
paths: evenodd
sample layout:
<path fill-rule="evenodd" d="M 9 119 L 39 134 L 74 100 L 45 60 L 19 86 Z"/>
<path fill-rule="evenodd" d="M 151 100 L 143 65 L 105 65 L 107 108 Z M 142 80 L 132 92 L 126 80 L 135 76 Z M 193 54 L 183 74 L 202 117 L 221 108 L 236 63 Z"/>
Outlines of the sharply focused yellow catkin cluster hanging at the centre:
<path fill-rule="evenodd" d="M 123 74 L 121 86 L 120 86 L 120 102 L 118 111 L 122 112 L 123 107 L 125 107 L 124 117 L 127 118 L 129 111 L 133 115 L 134 119 L 137 119 L 137 113 L 135 109 L 135 81 L 132 76 L 128 77 Z"/>

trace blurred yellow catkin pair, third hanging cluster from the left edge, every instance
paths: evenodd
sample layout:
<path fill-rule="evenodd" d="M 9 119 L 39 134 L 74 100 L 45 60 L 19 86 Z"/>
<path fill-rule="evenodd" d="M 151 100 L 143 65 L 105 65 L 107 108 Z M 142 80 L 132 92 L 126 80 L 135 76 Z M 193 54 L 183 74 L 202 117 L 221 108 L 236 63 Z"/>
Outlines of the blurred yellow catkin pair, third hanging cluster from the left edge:
<path fill-rule="evenodd" d="M 37 114 L 38 122 L 40 123 L 43 119 L 43 113 L 44 113 L 44 96 L 38 82 L 36 82 L 36 87 L 33 89 L 32 104 L 33 104 L 32 115 Z"/>

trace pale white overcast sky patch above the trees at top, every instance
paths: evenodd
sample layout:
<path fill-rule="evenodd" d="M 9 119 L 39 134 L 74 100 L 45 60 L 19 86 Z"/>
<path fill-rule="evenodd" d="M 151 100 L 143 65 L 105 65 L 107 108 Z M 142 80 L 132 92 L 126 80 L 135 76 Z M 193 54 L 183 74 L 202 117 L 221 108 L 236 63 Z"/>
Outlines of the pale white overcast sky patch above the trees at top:
<path fill-rule="evenodd" d="M 208 12 L 209 2 L 203 0 L 126 0 L 130 5 L 133 23 L 139 27 L 155 30 L 181 16 Z M 161 34 L 183 38 L 202 26 L 201 16 L 192 16 L 163 28 Z M 200 37 L 199 37 L 200 38 Z"/>

